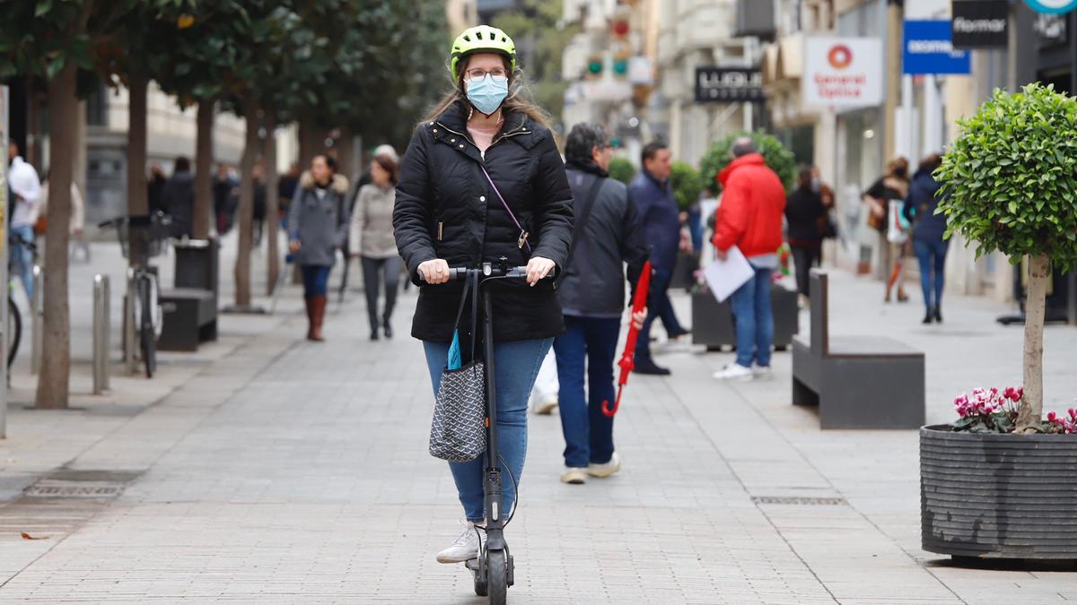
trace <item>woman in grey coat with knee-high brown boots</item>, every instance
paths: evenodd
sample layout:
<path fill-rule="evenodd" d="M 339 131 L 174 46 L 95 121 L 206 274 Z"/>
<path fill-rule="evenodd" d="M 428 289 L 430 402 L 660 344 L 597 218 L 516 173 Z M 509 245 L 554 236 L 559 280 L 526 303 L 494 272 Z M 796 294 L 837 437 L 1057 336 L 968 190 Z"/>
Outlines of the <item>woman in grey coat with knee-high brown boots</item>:
<path fill-rule="evenodd" d="M 348 179 L 337 174 L 336 160 L 316 155 L 303 173 L 289 211 L 289 245 L 303 273 L 307 306 L 307 340 L 322 341 L 326 292 L 336 251 L 348 235 Z"/>

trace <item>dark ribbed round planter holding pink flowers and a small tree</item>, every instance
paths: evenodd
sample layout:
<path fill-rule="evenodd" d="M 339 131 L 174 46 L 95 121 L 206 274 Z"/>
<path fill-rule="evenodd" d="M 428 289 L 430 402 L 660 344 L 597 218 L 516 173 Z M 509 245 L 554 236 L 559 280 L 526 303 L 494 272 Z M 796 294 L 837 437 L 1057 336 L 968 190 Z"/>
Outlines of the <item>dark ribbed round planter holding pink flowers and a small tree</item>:
<path fill-rule="evenodd" d="M 924 550 L 1077 560 L 1077 435 L 920 430 Z"/>

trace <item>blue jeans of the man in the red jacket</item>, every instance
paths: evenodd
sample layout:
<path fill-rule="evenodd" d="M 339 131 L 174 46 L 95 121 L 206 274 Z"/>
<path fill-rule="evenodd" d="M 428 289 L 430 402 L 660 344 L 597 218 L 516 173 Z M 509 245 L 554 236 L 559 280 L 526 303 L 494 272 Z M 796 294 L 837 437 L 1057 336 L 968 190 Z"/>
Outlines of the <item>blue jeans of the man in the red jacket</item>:
<path fill-rule="evenodd" d="M 752 367 L 752 360 L 770 366 L 770 346 L 774 341 L 774 315 L 770 309 L 770 276 L 773 269 L 755 269 L 729 297 L 737 322 L 737 364 Z"/>

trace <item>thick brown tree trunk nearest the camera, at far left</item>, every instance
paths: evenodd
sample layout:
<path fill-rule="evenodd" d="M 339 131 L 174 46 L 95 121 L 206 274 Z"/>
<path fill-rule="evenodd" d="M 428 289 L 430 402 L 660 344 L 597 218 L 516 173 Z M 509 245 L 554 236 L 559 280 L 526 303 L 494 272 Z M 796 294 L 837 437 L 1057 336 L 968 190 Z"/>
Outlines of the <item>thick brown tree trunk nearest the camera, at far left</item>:
<path fill-rule="evenodd" d="M 48 185 L 48 224 L 45 228 L 43 349 L 34 407 L 66 409 L 71 372 L 70 309 L 68 306 L 68 235 L 71 223 L 71 178 L 79 100 L 74 96 L 75 66 L 68 64 L 48 83 L 52 118 L 52 163 Z"/>

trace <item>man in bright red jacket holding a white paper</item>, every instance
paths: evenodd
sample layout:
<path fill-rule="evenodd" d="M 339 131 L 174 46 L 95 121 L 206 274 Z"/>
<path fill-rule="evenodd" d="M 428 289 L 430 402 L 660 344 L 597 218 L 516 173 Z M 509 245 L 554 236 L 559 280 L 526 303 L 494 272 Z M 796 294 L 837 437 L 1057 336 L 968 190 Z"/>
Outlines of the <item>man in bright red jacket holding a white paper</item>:
<path fill-rule="evenodd" d="M 778 249 L 782 245 L 785 187 L 764 163 L 752 139 L 735 141 L 732 155 L 733 160 L 718 174 L 723 193 L 714 221 L 714 248 L 722 259 L 730 248 L 739 248 L 755 276 L 730 297 L 737 322 L 737 362 L 714 372 L 714 378 L 752 380 L 770 376 L 770 347 L 774 340 L 770 277 L 778 268 Z"/>

